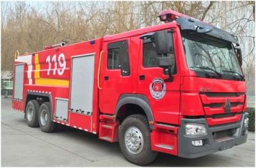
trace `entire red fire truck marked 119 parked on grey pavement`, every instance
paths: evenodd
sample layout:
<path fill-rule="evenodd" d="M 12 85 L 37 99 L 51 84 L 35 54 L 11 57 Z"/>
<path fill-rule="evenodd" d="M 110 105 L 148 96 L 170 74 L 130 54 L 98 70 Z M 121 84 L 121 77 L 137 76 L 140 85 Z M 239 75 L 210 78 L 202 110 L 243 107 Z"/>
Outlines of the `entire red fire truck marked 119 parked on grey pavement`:
<path fill-rule="evenodd" d="M 246 142 L 237 38 L 172 10 L 164 24 L 15 57 L 12 107 L 29 126 L 57 124 L 119 142 L 125 158 L 196 158 Z"/>

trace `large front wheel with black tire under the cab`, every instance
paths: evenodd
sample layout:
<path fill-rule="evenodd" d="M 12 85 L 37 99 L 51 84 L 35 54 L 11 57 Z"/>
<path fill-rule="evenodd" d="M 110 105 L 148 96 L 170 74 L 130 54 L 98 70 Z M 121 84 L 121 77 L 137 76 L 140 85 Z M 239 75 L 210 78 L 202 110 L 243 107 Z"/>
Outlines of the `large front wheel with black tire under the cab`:
<path fill-rule="evenodd" d="M 134 142 L 134 139 L 136 139 L 137 147 L 133 146 L 135 149 L 131 149 L 129 144 L 132 141 Z M 125 158 L 136 165 L 150 164 L 157 157 L 157 152 L 151 150 L 148 120 L 141 114 L 133 114 L 122 122 L 119 132 L 119 145 Z"/>

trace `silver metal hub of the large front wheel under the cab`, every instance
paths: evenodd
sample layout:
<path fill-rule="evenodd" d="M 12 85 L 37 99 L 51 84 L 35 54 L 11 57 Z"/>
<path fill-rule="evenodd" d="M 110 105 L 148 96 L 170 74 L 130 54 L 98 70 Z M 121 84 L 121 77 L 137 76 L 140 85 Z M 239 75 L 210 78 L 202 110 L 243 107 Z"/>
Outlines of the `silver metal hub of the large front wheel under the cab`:
<path fill-rule="evenodd" d="M 125 146 L 129 152 L 138 154 L 142 151 L 144 145 L 141 131 L 135 127 L 129 127 L 125 132 Z"/>

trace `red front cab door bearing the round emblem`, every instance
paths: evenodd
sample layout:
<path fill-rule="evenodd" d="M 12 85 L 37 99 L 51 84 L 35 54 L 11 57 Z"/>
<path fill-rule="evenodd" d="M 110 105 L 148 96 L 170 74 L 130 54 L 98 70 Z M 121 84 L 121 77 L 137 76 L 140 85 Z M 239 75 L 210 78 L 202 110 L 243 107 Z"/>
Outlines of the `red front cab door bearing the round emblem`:
<path fill-rule="evenodd" d="M 138 65 L 138 93 L 146 95 L 153 112 L 154 121 L 179 124 L 180 75 L 175 54 L 175 31 L 168 31 L 168 39 L 173 44 L 169 56 L 172 66 L 172 81 L 168 81 L 168 69 L 158 66 L 156 45 L 151 40 L 141 40 Z"/>

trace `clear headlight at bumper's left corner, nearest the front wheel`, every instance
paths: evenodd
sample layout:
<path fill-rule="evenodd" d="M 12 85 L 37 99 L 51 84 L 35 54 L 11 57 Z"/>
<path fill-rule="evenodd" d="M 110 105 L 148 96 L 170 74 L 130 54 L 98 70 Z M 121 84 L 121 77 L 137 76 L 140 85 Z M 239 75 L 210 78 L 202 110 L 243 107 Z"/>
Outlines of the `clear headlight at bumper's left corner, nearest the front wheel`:
<path fill-rule="evenodd" d="M 185 134 L 188 136 L 203 136 L 207 135 L 205 125 L 186 123 Z"/>

